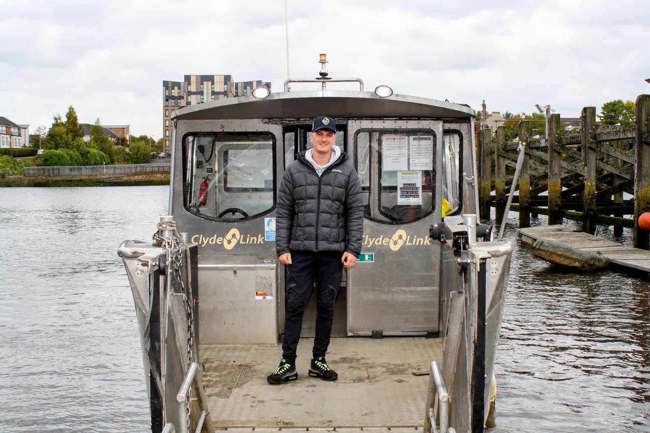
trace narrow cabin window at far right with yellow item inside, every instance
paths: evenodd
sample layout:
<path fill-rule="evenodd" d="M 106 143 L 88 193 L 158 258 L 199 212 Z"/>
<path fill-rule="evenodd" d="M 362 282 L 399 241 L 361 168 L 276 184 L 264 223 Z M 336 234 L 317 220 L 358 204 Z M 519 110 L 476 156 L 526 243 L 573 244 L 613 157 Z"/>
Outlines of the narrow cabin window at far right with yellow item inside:
<path fill-rule="evenodd" d="M 458 131 L 445 131 L 443 135 L 443 200 L 442 216 L 447 217 L 460 209 L 461 183 L 460 159 L 462 138 Z"/>

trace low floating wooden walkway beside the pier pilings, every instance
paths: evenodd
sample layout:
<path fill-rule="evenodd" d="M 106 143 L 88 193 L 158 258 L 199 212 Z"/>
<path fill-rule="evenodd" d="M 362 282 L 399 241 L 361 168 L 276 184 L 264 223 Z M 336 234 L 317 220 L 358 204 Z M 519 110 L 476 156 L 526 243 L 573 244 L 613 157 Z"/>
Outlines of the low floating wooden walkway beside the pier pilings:
<path fill-rule="evenodd" d="M 606 241 L 562 225 L 529 227 L 519 229 L 519 231 L 522 243 L 532 245 L 538 239 L 543 239 L 569 244 L 574 248 L 591 253 L 601 252 L 613 265 L 612 270 L 650 278 L 650 251 Z"/>

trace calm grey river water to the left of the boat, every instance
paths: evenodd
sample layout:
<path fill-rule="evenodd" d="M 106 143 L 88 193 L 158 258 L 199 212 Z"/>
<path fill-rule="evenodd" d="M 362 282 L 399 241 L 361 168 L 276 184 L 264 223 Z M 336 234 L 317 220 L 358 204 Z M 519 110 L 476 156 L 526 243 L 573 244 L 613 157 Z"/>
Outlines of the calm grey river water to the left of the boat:
<path fill-rule="evenodd" d="M 167 190 L 0 189 L 0 431 L 149 430 L 116 248 L 151 235 Z"/>

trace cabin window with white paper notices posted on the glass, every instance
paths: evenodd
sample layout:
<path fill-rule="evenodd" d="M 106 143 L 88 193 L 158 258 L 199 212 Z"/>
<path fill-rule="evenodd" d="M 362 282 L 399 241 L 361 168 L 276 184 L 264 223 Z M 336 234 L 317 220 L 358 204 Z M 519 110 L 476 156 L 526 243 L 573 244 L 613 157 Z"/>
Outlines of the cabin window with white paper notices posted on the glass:
<path fill-rule="evenodd" d="M 434 211 L 434 131 L 361 130 L 354 145 L 367 218 L 400 224 Z"/>

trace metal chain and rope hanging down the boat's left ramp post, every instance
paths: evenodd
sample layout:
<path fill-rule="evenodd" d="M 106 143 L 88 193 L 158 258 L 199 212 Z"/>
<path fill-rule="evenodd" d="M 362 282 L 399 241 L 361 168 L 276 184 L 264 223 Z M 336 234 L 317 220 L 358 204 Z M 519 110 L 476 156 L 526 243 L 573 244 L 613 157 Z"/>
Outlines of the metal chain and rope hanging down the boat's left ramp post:
<path fill-rule="evenodd" d="M 172 231 L 172 237 L 163 237 L 162 231 Z M 181 289 L 183 295 L 183 304 L 185 304 L 185 313 L 187 315 L 187 369 L 189 369 L 194 354 L 196 353 L 196 338 L 194 336 L 194 295 L 192 294 L 192 272 L 190 267 L 190 247 L 178 235 L 175 221 L 161 221 L 158 223 L 158 230 L 153 233 L 153 246 L 161 246 L 167 250 L 167 269 L 172 269 L 176 276 L 176 283 Z M 183 263 L 181 262 L 181 247 L 185 250 L 185 274 L 187 275 L 188 287 L 183 282 Z M 190 428 L 190 413 L 192 410 L 192 387 L 188 389 L 188 395 L 185 398 L 187 405 L 187 427 Z"/>

